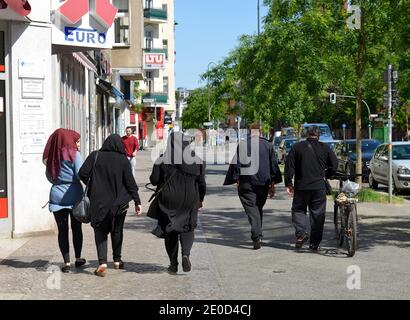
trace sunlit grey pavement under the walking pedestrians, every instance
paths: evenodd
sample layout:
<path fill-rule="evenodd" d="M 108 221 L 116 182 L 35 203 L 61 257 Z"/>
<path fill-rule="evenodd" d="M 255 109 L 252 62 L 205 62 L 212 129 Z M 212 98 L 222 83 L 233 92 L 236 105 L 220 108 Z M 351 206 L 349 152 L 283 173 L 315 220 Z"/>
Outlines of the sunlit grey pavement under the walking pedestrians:
<path fill-rule="evenodd" d="M 151 194 L 144 188 L 151 166 L 150 153 L 140 152 L 137 182 L 144 212 Z M 123 248 L 125 270 L 109 265 L 106 278 L 93 275 L 98 262 L 89 225 L 83 225 L 83 256 L 88 263 L 70 274 L 55 273 L 53 266 L 61 265 L 56 235 L 0 240 L 0 300 L 409 298 L 408 201 L 394 206 L 359 204 L 359 249 L 354 258 L 348 258 L 332 240 L 329 202 L 324 241 L 319 254 L 314 254 L 294 250 L 291 199 L 282 184 L 265 207 L 264 245 L 254 251 L 235 186 L 222 186 L 226 170 L 226 165 L 207 166 L 208 191 L 191 273 L 180 270 L 172 276 L 166 272 L 163 241 L 150 233 L 154 220 L 136 217 L 130 210 Z M 43 214 L 50 213 L 44 209 Z M 357 266 L 353 267 L 359 276 L 355 284 L 360 289 L 349 289 L 350 266 Z"/>

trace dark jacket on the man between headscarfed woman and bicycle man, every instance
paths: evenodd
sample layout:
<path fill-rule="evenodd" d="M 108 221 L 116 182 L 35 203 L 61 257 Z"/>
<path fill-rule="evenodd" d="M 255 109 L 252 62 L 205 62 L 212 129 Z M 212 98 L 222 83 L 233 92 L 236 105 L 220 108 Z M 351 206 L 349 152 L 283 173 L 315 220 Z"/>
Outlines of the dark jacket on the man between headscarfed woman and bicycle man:
<path fill-rule="evenodd" d="M 252 139 L 259 145 L 258 153 L 251 152 Z M 246 150 L 247 154 L 245 154 L 244 151 L 241 152 L 238 146 L 236 155 L 229 165 L 224 185 L 234 184 L 238 181 L 241 183 L 248 182 L 253 186 L 269 186 L 272 182 L 275 184 L 281 183 L 282 174 L 273 151 L 272 143 L 265 138 L 248 135 L 246 144 L 246 149 L 242 148 L 242 150 Z M 246 157 L 248 157 L 248 159 L 246 159 Z M 257 163 L 259 167 L 257 172 L 252 172 L 251 167 L 255 163 Z"/>

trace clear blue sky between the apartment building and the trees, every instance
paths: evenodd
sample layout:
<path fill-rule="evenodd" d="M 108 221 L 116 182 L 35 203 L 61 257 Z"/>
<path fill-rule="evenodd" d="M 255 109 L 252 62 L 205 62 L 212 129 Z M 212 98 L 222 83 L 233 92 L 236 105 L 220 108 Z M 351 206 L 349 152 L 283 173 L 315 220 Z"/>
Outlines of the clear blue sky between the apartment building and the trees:
<path fill-rule="evenodd" d="M 176 86 L 195 89 L 206 85 L 200 74 L 210 62 L 226 57 L 242 34 L 257 33 L 257 0 L 175 0 L 175 21 Z"/>

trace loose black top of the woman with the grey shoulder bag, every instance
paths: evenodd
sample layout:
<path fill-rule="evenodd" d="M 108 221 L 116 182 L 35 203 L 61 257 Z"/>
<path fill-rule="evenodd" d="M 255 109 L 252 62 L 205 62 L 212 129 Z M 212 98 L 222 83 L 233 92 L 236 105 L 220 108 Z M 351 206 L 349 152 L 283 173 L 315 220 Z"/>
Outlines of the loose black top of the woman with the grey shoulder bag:
<path fill-rule="evenodd" d="M 121 138 L 119 139 L 121 142 Z M 115 140 L 115 143 L 118 143 L 118 139 Z M 125 149 L 122 153 L 122 148 L 119 148 L 121 152 L 108 151 L 107 148 L 104 150 L 104 146 L 98 151 L 88 190 L 91 225 L 94 228 L 100 225 L 108 212 L 115 213 L 120 206 L 128 204 L 131 200 L 134 200 L 136 205 L 141 204 L 131 164 L 125 156 Z M 84 183 L 91 177 L 96 154 L 97 151 L 92 152 L 80 169 L 79 176 Z"/>

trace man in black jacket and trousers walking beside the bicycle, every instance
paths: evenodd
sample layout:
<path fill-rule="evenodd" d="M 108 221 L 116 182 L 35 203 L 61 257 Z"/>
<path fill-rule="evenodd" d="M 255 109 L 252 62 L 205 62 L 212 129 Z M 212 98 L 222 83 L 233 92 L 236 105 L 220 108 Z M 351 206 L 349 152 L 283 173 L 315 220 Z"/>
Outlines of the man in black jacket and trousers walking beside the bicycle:
<path fill-rule="evenodd" d="M 319 137 L 319 127 L 308 127 L 306 140 L 293 145 L 285 163 L 285 185 L 288 194 L 293 196 L 292 223 L 296 229 L 295 247 L 302 248 L 310 239 L 309 248 L 312 251 L 318 251 L 323 237 L 326 178 L 336 173 L 338 165 L 334 152 L 327 144 L 320 142 Z"/>

